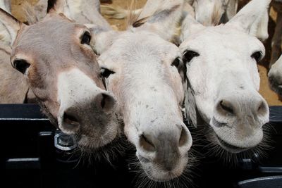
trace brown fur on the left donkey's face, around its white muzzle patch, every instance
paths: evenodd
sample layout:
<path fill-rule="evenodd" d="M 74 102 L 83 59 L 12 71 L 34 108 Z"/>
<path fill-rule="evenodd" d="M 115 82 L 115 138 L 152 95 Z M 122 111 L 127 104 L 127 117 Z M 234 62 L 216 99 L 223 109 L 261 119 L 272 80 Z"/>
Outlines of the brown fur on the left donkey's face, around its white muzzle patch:
<path fill-rule="evenodd" d="M 54 117 L 59 111 L 54 99 L 57 99 L 56 81 L 60 72 L 78 67 L 104 89 L 98 77 L 98 64 L 93 62 L 96 56 L 76 36 L 83 28 L 54 13 L 35 25 L 23 27 L 13 45 L 11 59 L 25 54 L 30 63 L 27 75 L 30 87 Z"/>

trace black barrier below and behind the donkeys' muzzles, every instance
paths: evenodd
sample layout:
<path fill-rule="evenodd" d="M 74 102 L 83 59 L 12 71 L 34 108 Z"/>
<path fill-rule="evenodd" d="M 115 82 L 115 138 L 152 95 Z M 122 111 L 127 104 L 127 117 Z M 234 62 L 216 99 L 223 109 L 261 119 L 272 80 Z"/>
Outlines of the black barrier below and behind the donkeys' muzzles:
<path fill-rule="evenodd" d="M 282 107 L 271 106 L 270 111 L 273 148 L 267 158 L 258 161 L 255 154 L 238 161 L 236 168 L 215 158 L 200 159 L 192 184 L 199 188 L 282 187 L 282 115 L 278 113 Z M 80 156 L 71 152 L 73 144 L 49 123 L 37 105 L 0 105 L 0 126 L 6 187 L 135 187 L 135 173 L 128 171 L 131 167 L 126 154 L 116 156 L 111 164 L 80 161 Z"/>

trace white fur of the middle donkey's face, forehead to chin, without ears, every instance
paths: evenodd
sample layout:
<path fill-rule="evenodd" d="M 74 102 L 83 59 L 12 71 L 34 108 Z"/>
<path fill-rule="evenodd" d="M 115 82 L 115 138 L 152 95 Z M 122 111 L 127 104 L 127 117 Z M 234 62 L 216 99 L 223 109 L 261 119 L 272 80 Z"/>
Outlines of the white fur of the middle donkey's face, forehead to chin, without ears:
<path fill-rule="evenodd" d="M 121 34 L 99 56 L 99 65 L 114 71 L 107 79 L 107 88 L 118 98 L 124 115 L 125 135 L 136 146 L 137 157 L 142 156 L 150 161 L 141 164 L 147 175 L 155 181 L 181 175 L 188 160 L 185 153 L 192 144 L 179 106 L 184 94 L 181 78 L 176 68 L 170 65 L 178 56 L 180 54 L 176 46 L 141 30 Z M 167 74 L 175 80 L 173 84 L 171 80 L 164 80 Z M 181 130 L 188 139 L 178 149 Z M 156 151 L 142 148 L 142 134 L 155 144 Z M 164 157 L 161 153 L 166 153 L 168 165 L 177 164 L 171 171 L 172 175 L 162 167 L 166 163 L 161 162 Z"/>

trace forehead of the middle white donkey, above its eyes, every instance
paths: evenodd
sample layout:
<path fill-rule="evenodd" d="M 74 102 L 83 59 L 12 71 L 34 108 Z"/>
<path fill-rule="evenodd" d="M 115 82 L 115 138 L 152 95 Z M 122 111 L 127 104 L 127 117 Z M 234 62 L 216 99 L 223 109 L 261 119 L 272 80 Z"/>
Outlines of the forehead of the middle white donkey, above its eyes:
<path fill-rule="evenodd" d="M 178 47 L 150 32 L 125 32 L 99 57 L 106 63 L 140 63 L 153 59 L 163 63 L 180 56 Z"/>

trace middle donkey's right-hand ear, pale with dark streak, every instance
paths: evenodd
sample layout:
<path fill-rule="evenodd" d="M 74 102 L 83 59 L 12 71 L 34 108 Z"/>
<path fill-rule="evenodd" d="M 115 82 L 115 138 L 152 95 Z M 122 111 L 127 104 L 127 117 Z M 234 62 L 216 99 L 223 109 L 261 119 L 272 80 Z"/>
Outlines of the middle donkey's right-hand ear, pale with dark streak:
<path fill-rule="evenodd" d="M 159 2 L 159 3 L 157 3 Z M 138 20 L 133 23 L 136 30 L 149 30 L 163 39 L 171 41 L 175 37 L 183 10 L 183 0 L 148 0 Z M 144 23 L 142 25 L 142 22 Z"/>

